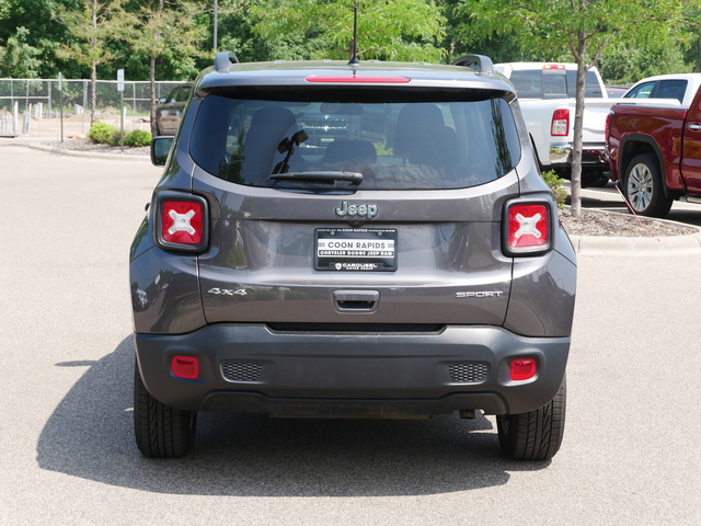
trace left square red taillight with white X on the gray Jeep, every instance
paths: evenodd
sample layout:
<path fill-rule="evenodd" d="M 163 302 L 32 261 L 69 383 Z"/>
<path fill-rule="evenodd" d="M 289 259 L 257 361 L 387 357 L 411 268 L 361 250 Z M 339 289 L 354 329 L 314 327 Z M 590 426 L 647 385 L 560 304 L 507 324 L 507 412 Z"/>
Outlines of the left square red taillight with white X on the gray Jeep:
<path fill-rule="evenodd" d="M 156 242 L 163 249 L 202 252 L 207 248 L 207 201 L 181 192 L 160 192 L 153 207 Z"/>

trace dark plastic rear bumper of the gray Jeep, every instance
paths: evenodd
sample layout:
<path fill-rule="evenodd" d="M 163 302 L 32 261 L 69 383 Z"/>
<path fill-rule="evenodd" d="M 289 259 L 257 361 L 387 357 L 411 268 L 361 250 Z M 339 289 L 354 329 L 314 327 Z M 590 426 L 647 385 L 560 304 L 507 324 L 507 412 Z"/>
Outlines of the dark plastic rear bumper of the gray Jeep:
<path fill-rule="evenodd" d="M 570 338 L 525 338 L 497 327 L 432 332 L 297 332 L 215 324 L 180 334 L 136 334 L 149 392 L 191 411 L 393 415 L 481 409 L 522 413 L 548 403 L 565 373 Z M 175 377 L 174 356 L 199 361 Z M 538 374 L 512 381 L 514 358 Z"/>

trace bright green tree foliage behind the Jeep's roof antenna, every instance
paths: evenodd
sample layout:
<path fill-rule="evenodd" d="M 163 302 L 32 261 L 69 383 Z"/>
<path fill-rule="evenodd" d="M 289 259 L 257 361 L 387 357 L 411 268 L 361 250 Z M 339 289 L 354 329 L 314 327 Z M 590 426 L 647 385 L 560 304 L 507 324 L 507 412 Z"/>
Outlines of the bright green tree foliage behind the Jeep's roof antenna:
<path fill-rule="evenodd" d="M 433 0 L 358 3 L 358 56 L 439 61 L 445 19 Z M 253 31 L 274 42 L 275 58 L 348 59 L 353 48 L 350 0 L 260 0 L 251 3 Z"/>

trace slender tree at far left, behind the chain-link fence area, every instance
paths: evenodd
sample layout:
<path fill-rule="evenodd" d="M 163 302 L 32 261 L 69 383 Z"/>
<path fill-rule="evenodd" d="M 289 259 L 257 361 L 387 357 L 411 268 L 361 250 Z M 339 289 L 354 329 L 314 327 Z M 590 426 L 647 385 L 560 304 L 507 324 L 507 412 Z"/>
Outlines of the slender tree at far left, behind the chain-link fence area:
<path fill-rule="evenodd" d="M 60 9 L 57 18 L 78 41 L 61 44 L 56 56 L 90 68 L 90 122 L 93 123 L 97 112 L 97 66 L 112 62 L 118 56 L 107 43 L 117 39 L 124 27 L 120 0 L 84 0 L 81 9 Z"/>

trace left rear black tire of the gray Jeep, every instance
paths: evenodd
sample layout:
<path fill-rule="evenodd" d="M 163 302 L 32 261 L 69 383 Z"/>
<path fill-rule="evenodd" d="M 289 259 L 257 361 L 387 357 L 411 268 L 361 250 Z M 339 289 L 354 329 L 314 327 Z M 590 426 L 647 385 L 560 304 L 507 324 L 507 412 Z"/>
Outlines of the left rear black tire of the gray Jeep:
<path fill-rule="evenodd" d="M 156 400 L 134 367 L 134 433 L 139 450 L 151 458 L 180 458 L 195 443 L 197 412 L 171 408 Z"/>

